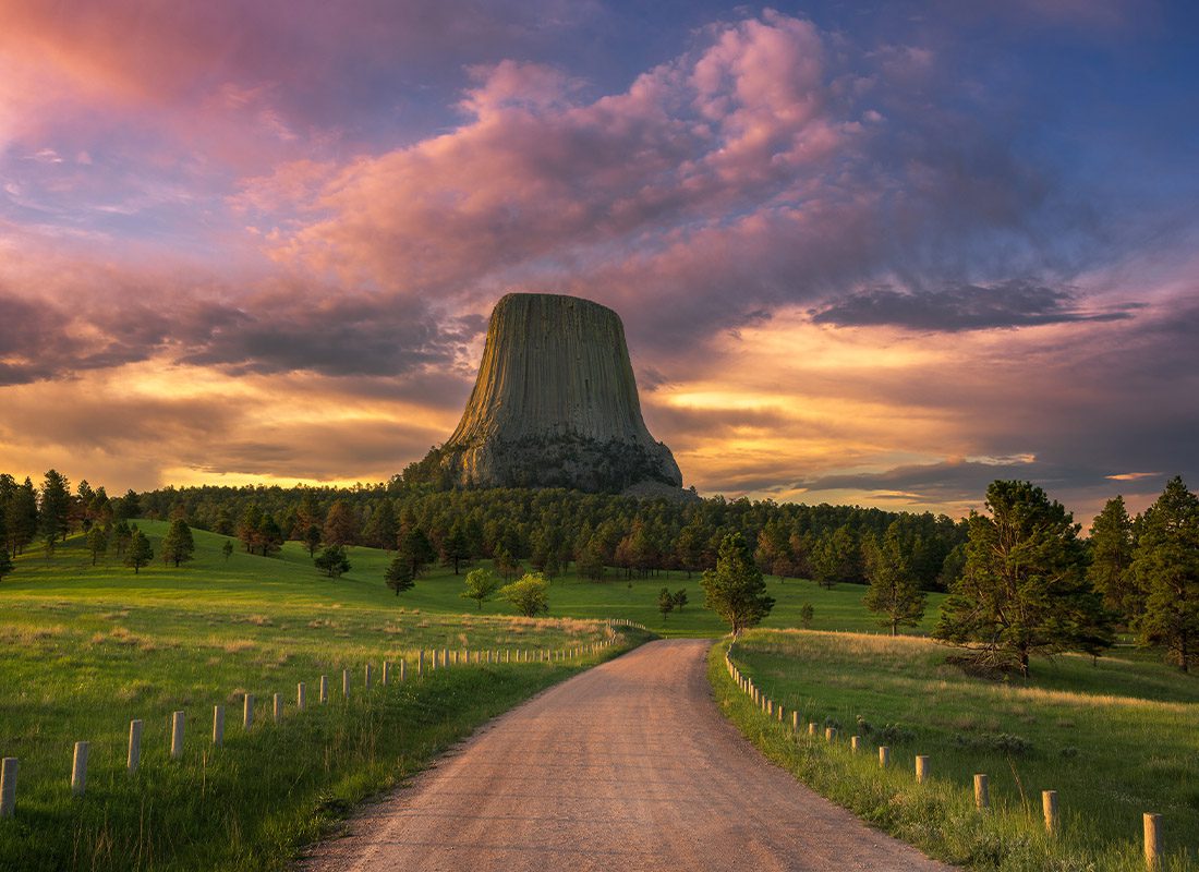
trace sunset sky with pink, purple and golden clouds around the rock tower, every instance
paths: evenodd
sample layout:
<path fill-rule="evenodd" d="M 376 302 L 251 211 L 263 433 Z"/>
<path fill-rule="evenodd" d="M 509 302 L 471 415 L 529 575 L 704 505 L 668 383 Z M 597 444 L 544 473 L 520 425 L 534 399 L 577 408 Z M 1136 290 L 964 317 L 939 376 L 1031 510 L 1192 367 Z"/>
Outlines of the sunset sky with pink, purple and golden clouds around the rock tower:
<path fill-rule="evenodd" d="M 1199 11 L 0 0 L 0 470 L 373 482 L 487 315 L 625 323 L 705 495 L 1199 485 Z"/>

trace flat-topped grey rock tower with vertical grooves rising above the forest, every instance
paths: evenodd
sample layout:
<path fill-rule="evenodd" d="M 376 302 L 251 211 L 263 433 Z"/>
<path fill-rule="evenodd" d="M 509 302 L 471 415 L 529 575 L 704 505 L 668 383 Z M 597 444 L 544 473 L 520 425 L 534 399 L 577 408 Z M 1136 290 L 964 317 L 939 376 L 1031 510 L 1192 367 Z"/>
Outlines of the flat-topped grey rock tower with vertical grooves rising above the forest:
<path fill-rule="evenodd" d="M 670 449 L 641 419 L 620 318 L 573 296 L 496 303 L 475 390 L 439 451 L 442 470 L 466 486 L 682 485 Z"/>

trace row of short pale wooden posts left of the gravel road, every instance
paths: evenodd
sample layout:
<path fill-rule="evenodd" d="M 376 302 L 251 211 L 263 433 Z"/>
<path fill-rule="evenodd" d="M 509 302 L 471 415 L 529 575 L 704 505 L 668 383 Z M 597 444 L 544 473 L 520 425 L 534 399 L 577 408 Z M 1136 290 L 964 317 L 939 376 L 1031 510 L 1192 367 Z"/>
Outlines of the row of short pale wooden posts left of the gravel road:
<path fill-rule="evenodd" d="M 408 662 L 411 660 L 415 666 L 415 674 L 411 679 L 421 679 L 424 675 L 433 673 L 438 669 L 445 669 L 451 666 L 486 666 L 486 664 L 501 664 L 501 663 L 568 663 L 582 657 L 602 654 L 603 651 L 621 644 L 625 642 L 623 633 L 616 632 L 616 627 L 635 627 L 644 630 L 644 627 L 633 621 L 626 621 L 623 619 L 615 619 L 604 621 L 604 638 L 601 642 L 594 642 L 582 645 L 571 645 L 561 649 L 550 648 L 496 648 L 488 650 L 470 650 L 460 649 L 450 651 L 448 648 L 441 649 L 417 649 L 414 655 L 405 656 L 396 662 L 382 661 L 381 669 L 379 670 L 379 686 L 387 687 L 392 684 L 404 682 L 409 679 Z M 451 657 L 451 654 L 453 655 Z M 398 667 L 398 669 L 396 668 Z M 361 667 L 361 674 L 363 676 L 362 687 L 369 690 L 374 685 L 375 668 L 374 663 L 364 663 Z M 349 699 L 354 692 L 354 670 L 343 669 L 342 670 L 342 697 L 343 699 Z M 319 680 L 319 703 L 321 705 L 329 703 L 329 676 L 321 675 Z M 282 724 L 285 720 L 287 704 L 284 698 L 278 692 L 272 692 L 270 697 L 271 702 L 271 723 L 273 726 Z M 296 686 L 296 703 L 295 712 L 300 714 L 307 709 L 307 684 L 301 681 Z M 255 710 L 255 696 L 253 693 L 246 692 L 242 696 L 242 732 L 249 733 L 254 729 L 254 710 Z M 186 732 L 187 718 L 183 711 L 173 711 L 170 714 L 170 760 L 179 760 L 183 757 L 183 736 Z M 144 721 L 140 718 L 129 722 L 129 741 L 128 741 L 128 754 L 127 754 L 127 770 L 137 772 L 141 765 L 141 733 L 143 733 Z M 225 738 L 225 724 L 224 724 L 224 706 L 213 705 L 212 706 L 212 746 L 223 747 Z M 71 758 L 71 794 L 73 796 L 83 796 L 86 793 L 88 784 L 88 758 L 91 752 L 91 742 L 89 741 L 77 741 L 73 747 Z M 0 819 L 11 818 L 17 811 L 17 775 L 20 769 L 20 762 L 16 757 L 4 757 L 0 762 Z"/>

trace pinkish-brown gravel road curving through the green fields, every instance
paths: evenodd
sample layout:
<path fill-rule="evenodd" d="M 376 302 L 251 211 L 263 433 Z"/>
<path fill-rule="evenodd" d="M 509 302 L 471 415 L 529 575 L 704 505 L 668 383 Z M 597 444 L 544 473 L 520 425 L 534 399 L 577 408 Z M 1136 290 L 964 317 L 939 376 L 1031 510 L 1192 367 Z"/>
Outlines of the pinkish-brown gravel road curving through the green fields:
<path fill-rule="evenodd" d="M 307 872 L 947 870 L 766 762 L 668 639 L 492 722 L 326 842 Z"/>

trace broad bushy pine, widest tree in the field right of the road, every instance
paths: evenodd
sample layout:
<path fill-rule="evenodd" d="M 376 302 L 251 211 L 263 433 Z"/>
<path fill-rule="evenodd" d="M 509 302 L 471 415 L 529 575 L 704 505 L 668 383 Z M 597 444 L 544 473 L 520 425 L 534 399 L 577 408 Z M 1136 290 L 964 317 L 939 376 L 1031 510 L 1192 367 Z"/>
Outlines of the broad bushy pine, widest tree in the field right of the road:
<path fill-rule="evenodd" d="M 1080 650 L 1103 623 L 1073 516 L 1028 481 L 994 481 L 971 512 L 966 565 L 933 633 L 993 668 L 1029 674 L 1034 654 Z M 1093 633 L 1086 633 L 1093 636 Z"/>

